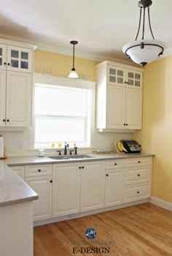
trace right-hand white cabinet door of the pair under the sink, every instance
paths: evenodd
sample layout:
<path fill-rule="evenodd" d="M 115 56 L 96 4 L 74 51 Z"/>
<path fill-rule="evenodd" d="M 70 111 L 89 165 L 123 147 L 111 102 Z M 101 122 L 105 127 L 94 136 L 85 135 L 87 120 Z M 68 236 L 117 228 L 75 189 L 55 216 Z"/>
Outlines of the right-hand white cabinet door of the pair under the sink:
<path fill-rule="evenodd" d="M 80 163 L 81 211 L 104 207 L 105 166 L 100 162 Z"/>

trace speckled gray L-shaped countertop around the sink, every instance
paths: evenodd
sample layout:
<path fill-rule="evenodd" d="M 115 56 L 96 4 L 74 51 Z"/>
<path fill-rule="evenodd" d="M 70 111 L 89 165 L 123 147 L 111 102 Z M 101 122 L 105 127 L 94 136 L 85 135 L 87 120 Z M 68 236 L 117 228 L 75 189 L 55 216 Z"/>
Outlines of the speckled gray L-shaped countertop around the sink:
<path fill-rule="evenodd" d="M 33 189 L 20 179 L 10 166 L 57 164 L 64 162 L 90 162 L 109 159 L 128 159 L 136 157 L 153 157 L 153 154 L 89 154 L 89 159 L 62 159 L 53 160 L 49 157 L 9 157 L 0 160 L 0 206 L 9 206 L 16 203 L 38 199 Z"/>

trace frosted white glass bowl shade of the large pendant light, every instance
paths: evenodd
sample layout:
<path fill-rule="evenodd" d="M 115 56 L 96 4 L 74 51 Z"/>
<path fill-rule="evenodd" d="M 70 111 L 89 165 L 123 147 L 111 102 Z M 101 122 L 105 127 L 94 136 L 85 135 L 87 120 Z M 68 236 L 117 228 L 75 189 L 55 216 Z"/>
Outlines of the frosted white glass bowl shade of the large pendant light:
<path fill-rule="evenodd" d="M 144 43 L 144 48 L 141 48 L 142 42 Z M 155 61 L 159 57 L 158 55 L 163 52 L 163 47 L 163 42 L 155 39 L 144 39 L 130 42 L 122 50 L 134 62 L 144 66 Z"/>

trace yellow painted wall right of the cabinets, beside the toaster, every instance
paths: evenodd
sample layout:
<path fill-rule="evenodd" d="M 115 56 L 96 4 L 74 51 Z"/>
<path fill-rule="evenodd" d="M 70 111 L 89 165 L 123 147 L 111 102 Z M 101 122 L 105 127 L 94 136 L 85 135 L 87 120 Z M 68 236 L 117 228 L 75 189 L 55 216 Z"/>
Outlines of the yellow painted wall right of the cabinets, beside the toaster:
<path fill-rule="evenodd" d="M 172 203 L 172 56 L 145 68 L 143 129 L 133 138 L 155 154 L 152 196 Z"/>

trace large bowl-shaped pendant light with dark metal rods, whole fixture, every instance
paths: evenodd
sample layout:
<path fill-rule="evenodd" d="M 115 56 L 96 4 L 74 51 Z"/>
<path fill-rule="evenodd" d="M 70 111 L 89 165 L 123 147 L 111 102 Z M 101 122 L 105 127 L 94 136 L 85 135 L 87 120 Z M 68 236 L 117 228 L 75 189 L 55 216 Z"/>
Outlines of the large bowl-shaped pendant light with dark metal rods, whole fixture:
<path fill-rule="evenodd" d="M 130 42 L 125 45 L 122 50 L 125 55 L 132 59 L 134 62 L 140 64 L 141 66 L 145 66 L 146 64 L 155 61 L 157 57 L 163 54 L 164 44 L 158 40 L 155 40 L 154 35 L 152 33 L 151 23 L 150 23 L 150 15 L 149 15 L 149 7 L 152 5 L 152 0 L 141 0 L 138 1 L 138 7 L 140 7 L 140 19 L 138 24 L 138 32 L 136 35 L 135 42 Z M 149 29 L 152 34 L 152 39 L 144 39 L 144 23 L 145 23 L 145 10 L 147 8 L 148 19 L 149 19 Z M 138 39 L 138 34 L 141 27 L 141 15 L 142 9 L 144 9 L 144 20 L 142 27 L 142 37 L 141 40 Z"/>

